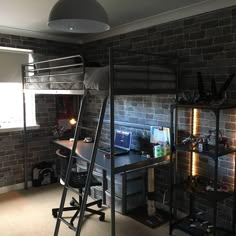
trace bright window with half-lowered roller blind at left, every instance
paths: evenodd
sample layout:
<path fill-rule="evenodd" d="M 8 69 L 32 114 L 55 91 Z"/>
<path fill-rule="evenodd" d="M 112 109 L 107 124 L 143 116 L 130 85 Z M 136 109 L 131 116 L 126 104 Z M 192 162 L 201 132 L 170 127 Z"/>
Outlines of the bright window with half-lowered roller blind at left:
<path fill-rule="evenodd" d="M 32 61 L 31 50 L 0 47 L 0 129 L 23 127 L 21 65 Z M 36 126 L 35 96 L 25 99 L 26 124 Z"/>

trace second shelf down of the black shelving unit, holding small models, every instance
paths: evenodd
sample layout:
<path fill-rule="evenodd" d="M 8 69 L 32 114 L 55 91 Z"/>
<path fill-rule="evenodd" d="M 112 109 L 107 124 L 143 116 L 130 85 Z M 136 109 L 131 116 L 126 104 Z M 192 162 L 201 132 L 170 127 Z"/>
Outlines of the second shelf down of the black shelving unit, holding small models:
<path fill-rule="evenodd" d="M 208 156 L 214 159 L 236 152 L 236 148 L 231 148 L 231 147 L 224 148 L 224 147 L 219 146 L 219 151 L 217 154 L 215 153 L 215 146 L 210 146 L 210 145 L 209 145 L 208 151 L 199 152 L 197 148 L 193 148 L 191 144 L 178 144 L 175 146 L 175 149 L 176 151 L 199 153 L 200 155 Z"/>

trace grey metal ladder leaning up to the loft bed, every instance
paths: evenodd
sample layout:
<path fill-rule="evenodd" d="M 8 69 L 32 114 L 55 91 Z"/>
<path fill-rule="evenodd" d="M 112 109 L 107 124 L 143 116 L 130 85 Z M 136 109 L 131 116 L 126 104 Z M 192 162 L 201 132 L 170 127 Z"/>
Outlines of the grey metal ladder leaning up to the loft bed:
<path fill-rule="evenodd" d="M 106 110 L 106 104 L 107 104 L 107 98 L 108 98 L 107 95 L 104 95 L 104 97 L 102 99 L 101 107 L 98 111 L 97 126 L 96 126 L 96 128 L 94 128 L 95 135 L 94 135 L 94 142 L 93 142 L 92 153 L 91 153 L 91 162 L 89 163 L 88 175 L 87 175 L 86 184 L 85 184 L 85 188 L 84 188 L 84 194 L 82 196 L 83 198 L 82 198 L 82 204 L 80 207 L 79 220 L 78 220 L 77 227 L 74 227 L 73 225 L 70 224 L 70 222 L 68 222 L 65 218 L 63 218 L 62 213 L 63 213 L 63 208 L 65 205 L 67 191 L 71 190 L 73 192 L 76 192 L 78 195 L 80 194 L 79 191 L 77 191 L 77 189 L 71 188 L 68 183 L 69 183 L 70 172 L 71 172 L 72 166 L 73 166 L 73 159 L 76 157 L 75 152 L 76 152 L 76 146 L 77 146 L 77 141 L 79 138 L 80 130 L 81 129 L 85 129 L 85 130 L 91 129 L 91 128 L 80 125 L 80 124 L 82 124 L 83 113 L 84 113 L 84 110 L 86 107 L 86 100 L 87 100 L 88 96 L 89 96 L 89 93 L 85 92 L 85 94 L 83 95 L 83 97 L 81 99 L 81 105 L 80 105 L 80 110 L 78 113 L 78 119 L 77 119 L 77 123 L 76 123 L 75 134 L 74 134 L 74 142 L 73 142 L 72 150 L 71 150 L 70 157 L 69 157 L 65 185 L 64 185 L 63 192 L 62 192 L 60 208 L 58 211 L 57 222 L 56 222 L 56 226 L 55 226 L 55 230 L 54 230 L 54 236 L 58 236 L 61 222 L 66 224 L 70 229 L 74 230 L 75 236 L 80 236 L 80 232 L 81 232 L 81 228 L 82 228 L 82 224 L 83 224 L 83 218 L 84 218 L 84 213 L 85 213 L 85 209 L 86 209 L 87 198 L 88 198 L 89 190 L 90 190 L 90 183 L 92 180 L 93 168 L 94 168 L 94 164 L 96 161 L 98 143 L 99 143 L 99 139 L 100 139 L 100 135 L 101 135 L 102 124 L 103 124 L 103 119 L 104 119 L 105 110 Z"/>

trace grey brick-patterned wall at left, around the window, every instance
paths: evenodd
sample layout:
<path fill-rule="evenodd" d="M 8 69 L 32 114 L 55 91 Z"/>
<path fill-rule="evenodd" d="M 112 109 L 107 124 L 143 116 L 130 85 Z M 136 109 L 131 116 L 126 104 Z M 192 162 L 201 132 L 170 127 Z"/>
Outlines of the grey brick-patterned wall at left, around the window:
<path fill-rule="evenodd" d="M 36 57 L 41 58 L 74 55 L 80 51 L 79 45 L 5 34 L 0 34 L 0 46 L 31 49 L 34 50 Z M 55 159 L 55 147 L 51 143 L 53 140 L 51 130 L 56 124 L 55 96 L 36 96 L 36 119 L 40 128 L 27 132 L 29 179 L 34 164 Z M 0 133 L 0 146 L 0 187 L 22 183 L 24 181 L 23 132 Z"/>

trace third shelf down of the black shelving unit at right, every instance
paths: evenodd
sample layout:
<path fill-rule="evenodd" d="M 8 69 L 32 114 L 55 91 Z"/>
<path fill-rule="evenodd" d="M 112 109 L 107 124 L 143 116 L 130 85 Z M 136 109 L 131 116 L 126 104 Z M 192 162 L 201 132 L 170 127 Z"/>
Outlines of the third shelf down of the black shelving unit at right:
<path fill-rule="evenodd" d="M 183 184 L 175 184 L 174 189 L 182 190 L 189 194 L 193 194 L 198 197 L 202 197 L 214 204 L 220 201 L 225 200 L 226 198 L 232 197 L 233 192 L 214 192 L 214 191 L 206 191 L 203 185 L 198 184 L 194 186 L 194 184 L 183 183 Z"/>

